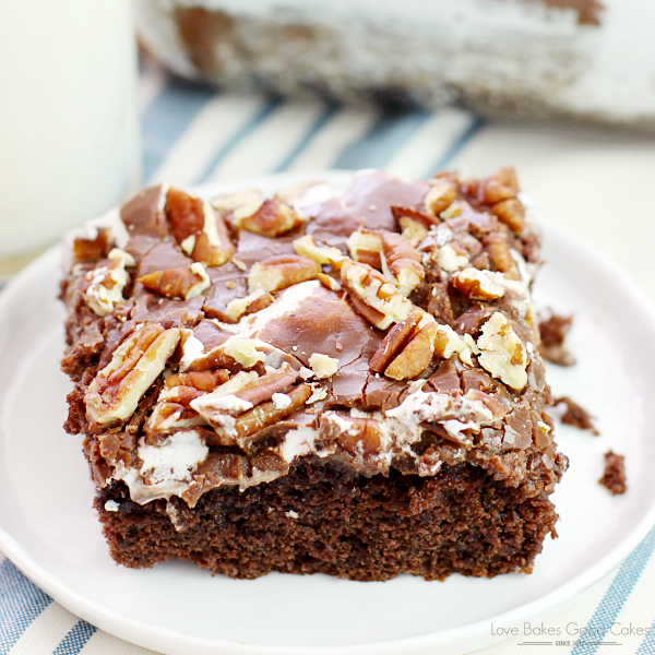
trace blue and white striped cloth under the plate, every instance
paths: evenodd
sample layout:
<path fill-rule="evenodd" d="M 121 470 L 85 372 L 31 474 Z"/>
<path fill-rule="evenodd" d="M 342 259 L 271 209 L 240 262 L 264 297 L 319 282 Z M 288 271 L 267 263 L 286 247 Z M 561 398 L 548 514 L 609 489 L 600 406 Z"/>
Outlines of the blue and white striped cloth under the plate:
<path fill-rule="evenodd" d="M 283 102 L 265 95 L 216 93 L 169 78 L 145 61 L 140 87 L 145 182 L 188 186 L 273 171 L 384 168 L 426 177 L 475 156 L 481 170 L 505 163 L 514 152 L 528 163 L 553 148 L 552 134 L 510 132 L 456 109 L 382 110 L 320 100 Z M 500 136 L 499 136 L 500 135 Z M 499 156 L 499 139 L 512 142 Z M 527 139 L 527 141 L 525 141 Z M 532 141 L 529 141 L 532 139 Z M 560 135 L 561 147 L 570 139 Z M 532 144 L 532 145 L 531 145 Z M 519 150 L 516 150 L 519 148 Z M 522 148 L 522 150 L 521 150 Z M 557 144 L 556 144 L 557 150 Z M 614 156 L 614 155 L 612 155 Z M 508 158 L 515 162 L 515 158 Z M 490 164 L 487 166 L 487 164 Z M 525 166 L 521 163 L 523 174 Z M 539 653 L 592 655 L 620 642 L 615 652 L 655 653 L 655 528 L 614 572 L 544 621 L 545 628 L 575 624 L 593 634 L 585 645 L 558 646 L 552 638 L 524 635 L 478 651 L 478 655 L 529 652 L 525 641 L 551 640 Z M 650 628 L 648 634 L 612 636 L 597 630 L 612 622 Z M 596 631 L 595 631 L 596 630 Z M 560 639 L 573 639 L 562 636 Z M 0 553 L 0 655 L 144 655 L 150 653 L 107 633 L 55 603 Z"/>

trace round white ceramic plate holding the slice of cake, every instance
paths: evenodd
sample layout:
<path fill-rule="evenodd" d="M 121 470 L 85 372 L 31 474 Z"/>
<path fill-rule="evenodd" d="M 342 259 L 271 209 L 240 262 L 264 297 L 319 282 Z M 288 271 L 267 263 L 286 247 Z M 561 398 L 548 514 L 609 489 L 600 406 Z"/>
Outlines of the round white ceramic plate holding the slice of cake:
<path fill-rule="evenodd" d="M 346 179 L 314 177 L 334 186 Z M 297 181 L 269 176 L 204 191 Z M 544 231 L 549 263 L 537 300 L 575 312 L 569 345 L 579 359 L 572 369 L 550 367 L 549 381 L 557 395 L 573 396 L 598 417 L 603 436 L 558 429 L 571 458 L 553 496 L 560 537 L 546 540 L 532 575 L 235 581 L 181 562 L 117 567 L 92 509 L 80 439 L 61 428 L 71 384 L 59 371 L 64 311 L 56 249 L 0 298 L 0 548 L 71 611 L 168 655 L 464 653 L 495 640 L 491 621 L 546 618 L 610 571 L 655 522 L 655 440 L 646 418 L 655 397 L 655 318 L 612 264 L 552 226 Z M 609 448 L 627 458 L 630 489 L 622 497 L 597 484 Z"/>

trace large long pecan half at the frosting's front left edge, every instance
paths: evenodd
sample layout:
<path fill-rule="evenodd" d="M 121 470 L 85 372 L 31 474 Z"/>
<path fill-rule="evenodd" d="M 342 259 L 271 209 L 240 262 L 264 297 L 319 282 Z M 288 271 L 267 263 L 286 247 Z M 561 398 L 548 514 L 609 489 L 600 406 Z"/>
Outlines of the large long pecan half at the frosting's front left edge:
<path fill-rule="evenodd" d="M 88 385 L 84 403 L 91 421 L 106 425 L 130 418 L 179 340 L 179 330 L 151 323 L 123 342 Z"/>

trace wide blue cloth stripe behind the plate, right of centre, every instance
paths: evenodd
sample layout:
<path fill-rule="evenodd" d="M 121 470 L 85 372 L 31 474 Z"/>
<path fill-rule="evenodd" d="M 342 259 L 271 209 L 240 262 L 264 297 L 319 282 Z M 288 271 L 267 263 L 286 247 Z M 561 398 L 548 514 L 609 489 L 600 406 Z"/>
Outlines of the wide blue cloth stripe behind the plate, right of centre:
<path fill-rule="evenodd" d="M 334 163 L 334 168 L 384 168 L 385 164 L 431 116 L 424 110 L 384 112 L 367 134 Z"/>

